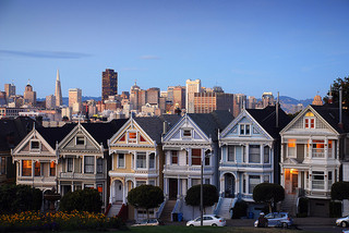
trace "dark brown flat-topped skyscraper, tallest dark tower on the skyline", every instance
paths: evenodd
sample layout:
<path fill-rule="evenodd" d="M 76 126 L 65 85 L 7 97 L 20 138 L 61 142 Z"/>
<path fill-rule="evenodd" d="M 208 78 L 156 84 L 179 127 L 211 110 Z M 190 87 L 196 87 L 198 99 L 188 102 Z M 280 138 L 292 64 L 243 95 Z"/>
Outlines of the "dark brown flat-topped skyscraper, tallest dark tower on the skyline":
<path fill-rule="evenodd" d="M 107 100 L 109 96 L 118 95 L 118 72 L 106 69 L 101 73 L 101 100 Z"/>

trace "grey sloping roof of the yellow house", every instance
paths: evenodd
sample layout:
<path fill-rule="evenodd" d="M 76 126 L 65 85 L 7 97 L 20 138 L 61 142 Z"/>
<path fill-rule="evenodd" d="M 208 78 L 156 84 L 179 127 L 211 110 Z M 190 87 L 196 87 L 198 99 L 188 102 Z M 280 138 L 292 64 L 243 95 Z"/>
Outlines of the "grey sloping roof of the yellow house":
<path fill-rule="evenodd" d="M 164 133 L 164 122 L 168 123 L 168 130 L 172 127 L 180 116 L 176 114 L 164 114 L 161 116 L 134 118 L 134 121 L 143 128 L 143 131 L 152 137 L 153 140 L 160 143 Z"/>

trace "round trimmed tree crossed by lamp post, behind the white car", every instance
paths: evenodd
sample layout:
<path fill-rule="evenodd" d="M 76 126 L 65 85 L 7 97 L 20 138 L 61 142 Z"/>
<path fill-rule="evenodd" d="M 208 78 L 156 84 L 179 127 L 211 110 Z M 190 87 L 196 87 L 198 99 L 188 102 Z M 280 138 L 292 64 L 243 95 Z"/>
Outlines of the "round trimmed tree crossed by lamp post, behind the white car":
<path fill-rule="evenodd" d="M 201 185 L 194 185 L 188 189 L 185 196 L 185 203 L 190 206 L 200 206 L 200 189 Z M 212 184 L 204 184 L 204 209 L 206 206 L 213 206 L 218 201 L 218 192 L 217 187 Z"/>

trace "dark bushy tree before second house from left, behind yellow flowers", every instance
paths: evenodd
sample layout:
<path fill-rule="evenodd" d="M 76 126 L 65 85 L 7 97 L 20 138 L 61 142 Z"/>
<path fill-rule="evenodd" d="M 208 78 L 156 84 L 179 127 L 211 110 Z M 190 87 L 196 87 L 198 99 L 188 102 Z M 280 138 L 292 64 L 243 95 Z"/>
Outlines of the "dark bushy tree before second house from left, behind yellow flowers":
<path fill-rule="evenodd" d="M 97 189 L 86 188 L 83 191 L 69 192 L 60 201 L 60 210 L 71 212 L 73 210 L 100 212 L 101 198 Z"/>

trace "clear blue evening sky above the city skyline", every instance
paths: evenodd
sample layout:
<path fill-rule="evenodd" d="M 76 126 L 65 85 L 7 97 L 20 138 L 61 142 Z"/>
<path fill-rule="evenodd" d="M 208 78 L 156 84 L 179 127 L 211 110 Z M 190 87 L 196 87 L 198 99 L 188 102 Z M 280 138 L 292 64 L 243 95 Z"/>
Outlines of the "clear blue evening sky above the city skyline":
<path fill-rule="evenodd" d="M 101 72 L 119 93 L 221 86 L 261 98 L 325 96 L 349 75 L 348 0 L 0 0 L 0 90 L 27 81 L 38 97 L 81 88 L 100 96 Z"/>

